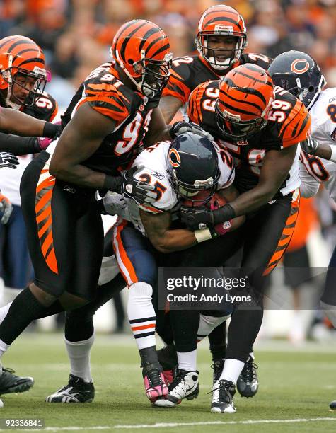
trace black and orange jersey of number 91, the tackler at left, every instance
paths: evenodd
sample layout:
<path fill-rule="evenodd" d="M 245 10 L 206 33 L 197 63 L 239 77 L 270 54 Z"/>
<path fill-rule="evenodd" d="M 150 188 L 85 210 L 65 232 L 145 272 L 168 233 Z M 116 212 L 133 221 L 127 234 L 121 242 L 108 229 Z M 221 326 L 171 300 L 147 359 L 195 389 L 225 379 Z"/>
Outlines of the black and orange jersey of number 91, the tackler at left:
<path fill-rule="evenodd" d="M 98 149 L 86 161 L 87 166 L 108 175 L 117 175 L 132 165 L 139 154 L 146 134 L 151 112 L 159 98 L 146 98 L 120 81 L 114 63 L 102 64 L 94 69 L 81 84 L 62 116 L 62 127 L 70 121 L 76 108 L 88 103 L 93 110 L 116 122 L 115 130 L 108 134 Z"/>

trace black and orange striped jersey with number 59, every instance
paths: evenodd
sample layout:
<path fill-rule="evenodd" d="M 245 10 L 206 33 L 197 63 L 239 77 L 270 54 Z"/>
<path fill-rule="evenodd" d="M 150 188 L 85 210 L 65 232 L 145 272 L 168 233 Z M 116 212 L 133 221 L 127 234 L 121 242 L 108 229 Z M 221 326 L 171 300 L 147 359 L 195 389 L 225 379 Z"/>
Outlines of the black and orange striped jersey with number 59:
<path fill-rule="evenodd" d="M 235 185 L 240 192 L 245 192 L 257 185 L 262 160 L 267 151 L 281 151 L 308 137 L 311 117 L 300 100 L 283 88 L 275 86 L 267 125 L 245 142 L 237 144 L 224 138 L 217 126 L 215 103 L 218 96 L 219 80 L 197 86 L 190 95 L 187 115 L 191 122 L 197 123 L 212 134 L 219 145 L 226 147 L 235 158 Z M 299 150 L 298 146 L 291 171 L 275 198 L 299 187 Z"/>

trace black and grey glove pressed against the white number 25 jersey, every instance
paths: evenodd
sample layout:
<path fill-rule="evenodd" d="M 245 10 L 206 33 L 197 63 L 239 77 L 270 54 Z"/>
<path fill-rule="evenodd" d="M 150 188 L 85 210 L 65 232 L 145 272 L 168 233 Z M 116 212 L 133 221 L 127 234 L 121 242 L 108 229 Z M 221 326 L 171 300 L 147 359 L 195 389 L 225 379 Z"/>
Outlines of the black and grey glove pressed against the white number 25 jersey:
<path fill-rule="evenodd" d="M 117 192 L 120 192 L 124 197 L 133 199 L 137 204 L 151 204 L 156 201 L 157 197 L 156 192 L 154 192 L 155 187 L 134 177 L 135 173 L 142 170 L 142 168 L 144 167 L 132 167 L 125 171 L 122 174 Z"/>

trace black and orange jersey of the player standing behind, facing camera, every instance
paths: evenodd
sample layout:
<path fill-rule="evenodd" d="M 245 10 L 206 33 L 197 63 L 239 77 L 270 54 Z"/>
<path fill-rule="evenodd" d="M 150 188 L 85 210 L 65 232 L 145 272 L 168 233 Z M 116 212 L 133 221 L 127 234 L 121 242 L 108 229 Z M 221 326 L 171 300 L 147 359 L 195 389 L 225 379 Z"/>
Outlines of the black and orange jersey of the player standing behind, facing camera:
<path fill-rule="evenodd" d="M 253 63 L 267 69 L 272 59 L 264 54 L 243 54 L 234 67 L 240 64 Z M 230 69 L 228 69 L 229 71 Z M 214 69 L 199 55 L 176 57 L 173 59 L 173 66 L 170 69 L 170 77 L 162 96 L 174 96 L 185 104 L 190 93 L 199 84 L 209 80 L 218 80 L 221 76 L 216 74 Z"/>

